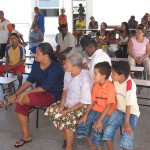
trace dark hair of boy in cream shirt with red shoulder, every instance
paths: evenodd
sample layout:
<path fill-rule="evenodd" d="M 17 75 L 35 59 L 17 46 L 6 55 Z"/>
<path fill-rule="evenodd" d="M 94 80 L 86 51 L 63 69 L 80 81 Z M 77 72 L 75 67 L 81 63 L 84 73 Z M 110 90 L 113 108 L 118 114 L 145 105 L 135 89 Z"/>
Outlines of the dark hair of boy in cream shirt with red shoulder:
<path fill-rule="evenodd" d="M 130 66 L 128 62 L 118 61 L 112 65 L 112 68 L 118 75 L 123 74 L 126 78 L 128 78 L 130 74 Z"/>

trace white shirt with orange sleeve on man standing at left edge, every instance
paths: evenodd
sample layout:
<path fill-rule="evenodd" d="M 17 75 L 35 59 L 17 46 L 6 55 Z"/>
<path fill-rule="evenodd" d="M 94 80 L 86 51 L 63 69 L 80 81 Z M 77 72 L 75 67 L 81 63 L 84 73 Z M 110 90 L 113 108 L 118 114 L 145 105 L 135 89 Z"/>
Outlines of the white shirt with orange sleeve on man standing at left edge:
<path fill-rule="evenodd" d="M 0 44 L 7 43 L 9 32 L 13 29 L 9 20 L 0 21 Z"/>

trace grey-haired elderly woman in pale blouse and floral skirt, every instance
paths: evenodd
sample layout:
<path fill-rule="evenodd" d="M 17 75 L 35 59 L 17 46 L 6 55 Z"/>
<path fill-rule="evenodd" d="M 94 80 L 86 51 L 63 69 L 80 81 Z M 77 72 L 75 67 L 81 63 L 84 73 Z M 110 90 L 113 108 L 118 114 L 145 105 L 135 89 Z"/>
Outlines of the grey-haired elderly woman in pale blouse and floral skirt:
<path fill-rule="evenodd" d="M 91 104 L 92 80 L 88 70 L 82 69 L 82 61 L 78 53 L 67 56 L 61 102 L 52 104 L 45 113 L 63 132 L 63 148 L 66 147 L 66 150 L 72 150 L 77 121 L 85 112 L 84 106 Z"/>

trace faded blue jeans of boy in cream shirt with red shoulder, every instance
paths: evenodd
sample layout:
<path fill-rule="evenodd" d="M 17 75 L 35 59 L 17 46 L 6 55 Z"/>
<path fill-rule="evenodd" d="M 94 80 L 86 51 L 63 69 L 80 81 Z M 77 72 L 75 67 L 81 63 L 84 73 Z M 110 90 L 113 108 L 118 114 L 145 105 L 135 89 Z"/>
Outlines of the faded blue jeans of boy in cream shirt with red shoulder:
<path fill-rule="evenodd" d="M 110 119 L 107 122 L 107 125 L 104 129 L 103 140 L 113 140 L 116 130 L 124 124 L 125 121 L 125 113 L 119 110 L 116 110 Z M 121 134 L 120 139 L 120 146 L 126 149 L 133 149 L 134 143 L 134 133 L 133 130 L 135 129 L 138 122 L 138 117 L 136 115 L 130 115 L 130 126 L 132 128 L 132 134 L 129 136 L 126 132 Z"/>

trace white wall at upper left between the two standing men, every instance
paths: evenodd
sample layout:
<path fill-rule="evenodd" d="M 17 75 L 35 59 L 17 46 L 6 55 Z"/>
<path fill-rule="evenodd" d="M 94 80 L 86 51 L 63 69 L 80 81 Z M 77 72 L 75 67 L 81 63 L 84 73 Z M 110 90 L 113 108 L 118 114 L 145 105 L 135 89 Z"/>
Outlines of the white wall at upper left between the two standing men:
<path fill-rule="evenodd" d="M 31 0 L 0 0 L 0 10 L 11 23 L 16 23 L 16 29 L 28 41 L 28 33 L 32 21 Z"/>

